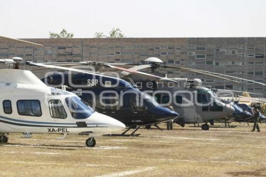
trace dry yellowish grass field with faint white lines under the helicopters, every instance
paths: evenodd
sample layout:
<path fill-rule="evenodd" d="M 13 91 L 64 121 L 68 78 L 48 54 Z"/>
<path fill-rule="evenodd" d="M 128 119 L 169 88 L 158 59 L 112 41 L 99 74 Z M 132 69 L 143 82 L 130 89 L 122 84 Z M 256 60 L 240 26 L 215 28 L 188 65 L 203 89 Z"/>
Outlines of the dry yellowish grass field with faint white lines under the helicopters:
<path fill-rule="evenodd" d="M 233 124 L 139 129 L 139 137 L 98 137 L 94 148 L 86 136 L 10 134 L 0 144 L 0 176 L 266 176 L 266 124 L 262 132 Z"/>

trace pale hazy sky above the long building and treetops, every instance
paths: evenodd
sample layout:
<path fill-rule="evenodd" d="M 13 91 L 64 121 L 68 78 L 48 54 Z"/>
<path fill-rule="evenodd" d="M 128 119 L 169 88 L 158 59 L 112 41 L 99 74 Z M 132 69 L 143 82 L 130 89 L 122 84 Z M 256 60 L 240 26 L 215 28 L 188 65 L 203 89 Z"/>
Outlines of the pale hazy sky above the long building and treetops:
<path fill-rule="evenodd" d="M 265 37 L 265 0 L 0 0 L 0 36 Z"/>

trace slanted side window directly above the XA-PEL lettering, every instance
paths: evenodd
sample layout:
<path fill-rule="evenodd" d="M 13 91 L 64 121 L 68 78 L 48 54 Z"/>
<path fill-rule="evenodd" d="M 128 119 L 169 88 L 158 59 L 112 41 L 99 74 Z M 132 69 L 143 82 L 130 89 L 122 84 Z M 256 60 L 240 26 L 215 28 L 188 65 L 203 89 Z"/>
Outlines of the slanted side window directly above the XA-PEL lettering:
<path fill-rule="evenodd" d="M 52 118 L 65 119 L 67 118 L 66 111 L 60 100 L 50 100 L 49 109 Z"/>

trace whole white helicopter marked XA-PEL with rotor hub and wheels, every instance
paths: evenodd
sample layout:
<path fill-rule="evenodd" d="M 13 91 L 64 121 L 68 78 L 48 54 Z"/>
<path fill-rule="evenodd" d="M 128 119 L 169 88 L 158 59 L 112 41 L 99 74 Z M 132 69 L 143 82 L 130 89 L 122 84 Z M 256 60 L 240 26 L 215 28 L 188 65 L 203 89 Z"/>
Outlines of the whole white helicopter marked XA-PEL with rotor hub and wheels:
<path fill-rule="evenodd" d="M 23 60 L 14 57 L 0 59 L 0 63 L 18 68 Z M 75 94 L 46 86 L 28 70 L 0 69 L 0 88 L 1 143 L 8 142 L 9 133 L 23 133 L 25 137 L 32 133 L 63 134 L 62 139 L 67 134 L 88 134 L 85 143 L 94 147 L 94 137 L 125 128 L 120 121 L 95 112 Z"/>

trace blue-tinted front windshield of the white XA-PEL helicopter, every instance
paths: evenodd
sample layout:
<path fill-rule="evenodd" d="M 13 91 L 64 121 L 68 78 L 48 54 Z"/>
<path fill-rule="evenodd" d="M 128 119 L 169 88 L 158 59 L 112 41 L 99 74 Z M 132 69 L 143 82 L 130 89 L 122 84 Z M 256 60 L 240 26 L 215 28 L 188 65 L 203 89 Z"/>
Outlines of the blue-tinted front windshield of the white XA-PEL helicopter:
<path fill-rule="evenodd" d="M 67 97 L 65 101 L 74 119 L 86 119 L 95 112 L 77 96 Z"/>

